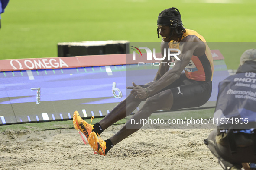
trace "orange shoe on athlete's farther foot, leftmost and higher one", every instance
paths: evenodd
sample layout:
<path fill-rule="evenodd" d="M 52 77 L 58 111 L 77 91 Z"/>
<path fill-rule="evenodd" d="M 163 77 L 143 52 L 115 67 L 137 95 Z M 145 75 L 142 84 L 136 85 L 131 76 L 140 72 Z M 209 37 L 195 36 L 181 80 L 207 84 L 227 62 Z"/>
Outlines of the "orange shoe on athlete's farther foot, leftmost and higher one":
<path fill-rule="evenodd" d="M 91 118 L 91 122 L 93 120 L 93 117 Z M 93 125 L 87 123 L 84 121 L 80 116 L 78 111 L 75 111 L 73 114 L 73 125 L 75 129 L 79 132 L 81 135 L 81 138 L 84 142 L 85 145 L 88 144 L 88 138 L 89 135 L 91 134 L 91 131 L 93 129 Z"/>

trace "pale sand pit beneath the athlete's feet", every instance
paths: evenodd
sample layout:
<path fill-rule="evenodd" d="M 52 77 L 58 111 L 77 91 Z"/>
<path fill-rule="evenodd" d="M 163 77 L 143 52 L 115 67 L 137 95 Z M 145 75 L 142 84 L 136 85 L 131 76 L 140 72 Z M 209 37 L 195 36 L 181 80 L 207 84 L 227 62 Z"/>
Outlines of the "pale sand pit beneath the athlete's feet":
<path fill-rule="evenodd" d="M 110 126 L 107 139 L 122 125 Z M 140 129 L 112 148 L 95 155 L 75 129 L 0 133 L 0 169 L 193 169 L 222 168 L 203 140 L 212 129 Z"/>

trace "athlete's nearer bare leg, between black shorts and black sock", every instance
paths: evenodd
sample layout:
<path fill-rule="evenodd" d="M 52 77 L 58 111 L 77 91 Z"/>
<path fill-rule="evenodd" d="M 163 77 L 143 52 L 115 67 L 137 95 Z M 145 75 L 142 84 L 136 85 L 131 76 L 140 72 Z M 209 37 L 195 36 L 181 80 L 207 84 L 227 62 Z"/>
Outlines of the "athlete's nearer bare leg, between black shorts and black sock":
<path fill-rule="evenodd" d="M 169 110 L 172 107 L 173 95 L 171 90 L 165 90 L 156 94 L 152 97 L 147 98 L 143 107 L 118 131 L 113 135 L 110 140 L 113 145 L 116 145 L 129 135 L 138 131 L 143 124 L 132 125 L 133 129 L 128 129 L 127 126 L 131 127 L 131 120 L 147 119 L 152 112 L 156 110 Z"/>

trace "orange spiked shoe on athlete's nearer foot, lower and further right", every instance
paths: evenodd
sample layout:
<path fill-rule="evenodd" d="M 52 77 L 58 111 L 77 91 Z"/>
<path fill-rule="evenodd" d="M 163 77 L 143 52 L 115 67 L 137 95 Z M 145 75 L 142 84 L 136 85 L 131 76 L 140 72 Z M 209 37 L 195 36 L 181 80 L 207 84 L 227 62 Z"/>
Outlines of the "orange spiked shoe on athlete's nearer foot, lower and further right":
<path fill-rule="evenodd" d="M 100 137 L 100 135 L 99 135 Z M 95 132 L 91 132 L 91 134 L 89 135 L 89 139 L 88 139 L 89 145 L 91 146 L 91 148 L 94 150 L 94 154 L 95 152 L 97 152 L 98 154 L 101 155 L 106 155 L 105 151 L 106 151 L 106 142 L 104 140 L 102 140 L 101 138 L 98 139 L 97 134 Z"/>

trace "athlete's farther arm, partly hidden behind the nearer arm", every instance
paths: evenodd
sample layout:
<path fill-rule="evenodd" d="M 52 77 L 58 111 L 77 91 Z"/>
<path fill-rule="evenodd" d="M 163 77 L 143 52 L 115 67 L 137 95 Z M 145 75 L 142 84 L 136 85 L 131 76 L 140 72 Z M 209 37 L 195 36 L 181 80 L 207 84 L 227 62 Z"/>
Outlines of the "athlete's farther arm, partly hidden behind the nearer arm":
<path fill-rule="evenodd" d="M 164 50 L 165 49 L 168 49 L 168 42 L 165 42 L 162 40 L 161 42 L 161 54 L 162 56 L 164 56 Z M 155 81 L 160 79 L 164 74 L 165 72 L 167 72 L 170 68 L 170 66 L 167 64 L 169 61 L 168 61 L 168 58 L 165 57 L 165 60 L 162 60 L 162 63 L 160 64 L 159 68 L 158 68 L 158 71 L 156 73 L 156 76 L 155 76 Z M 164 64 L 165 63 L 165 64 Z"/>

